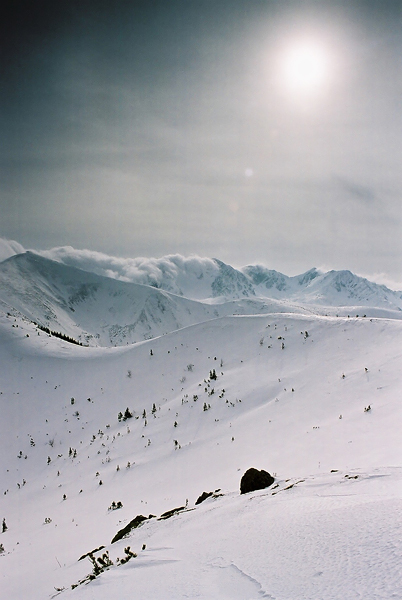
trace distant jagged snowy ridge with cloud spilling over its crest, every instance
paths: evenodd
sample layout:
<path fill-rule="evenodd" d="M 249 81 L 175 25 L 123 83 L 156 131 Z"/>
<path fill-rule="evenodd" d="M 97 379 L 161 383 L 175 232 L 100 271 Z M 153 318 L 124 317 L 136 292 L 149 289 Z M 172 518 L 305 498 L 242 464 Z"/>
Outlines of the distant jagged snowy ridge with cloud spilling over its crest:
<path fill-rule="evenodd" d="M 402 308 L 402 291 L 394 292 L 350 271 L 324 273 L 314 268 L 288 277 L 263 265 L 235 269 L 218 259 L 178 254 L 123 259 L 70 247 L 42 251 L 41 255 L 97 275 L 150 285 L 193 300 L 217 302 L 256 295 L 321 306 Z"/>

